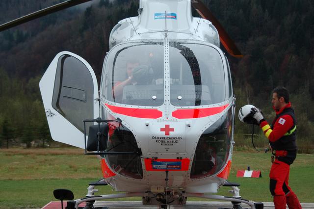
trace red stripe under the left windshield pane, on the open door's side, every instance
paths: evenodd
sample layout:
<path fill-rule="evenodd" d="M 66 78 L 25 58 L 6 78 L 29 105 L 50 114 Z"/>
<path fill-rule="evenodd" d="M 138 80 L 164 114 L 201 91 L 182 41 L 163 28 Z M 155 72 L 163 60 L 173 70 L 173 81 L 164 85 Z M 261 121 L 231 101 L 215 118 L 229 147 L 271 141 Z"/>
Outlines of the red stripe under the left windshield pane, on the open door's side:
<path fill-rule="evenodd" d="M 112 111 L 118 114 L 127 115 L 135 118 L 151 118 L 157 119 L 162 117 L 162 112 L 158 109 L 144 109 L 144 108 L 130 108 L 130 107 L 121 107 L 113 106 L 110 104 L 105 105 Z"/>

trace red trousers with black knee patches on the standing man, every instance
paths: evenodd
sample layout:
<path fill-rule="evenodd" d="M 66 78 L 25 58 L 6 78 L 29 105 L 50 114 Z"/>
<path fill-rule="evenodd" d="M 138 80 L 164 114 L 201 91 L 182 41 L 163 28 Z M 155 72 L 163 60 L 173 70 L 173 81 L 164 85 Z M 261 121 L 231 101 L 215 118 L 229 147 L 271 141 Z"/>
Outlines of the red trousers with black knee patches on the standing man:
<path fill-rule="evenodd" d="M 302 209 L 296 194 L 288 185 L 290 166 L 275 160 L 271 166 L 269 178 L 270 193 L 274 196 L 275 209 Z"/>

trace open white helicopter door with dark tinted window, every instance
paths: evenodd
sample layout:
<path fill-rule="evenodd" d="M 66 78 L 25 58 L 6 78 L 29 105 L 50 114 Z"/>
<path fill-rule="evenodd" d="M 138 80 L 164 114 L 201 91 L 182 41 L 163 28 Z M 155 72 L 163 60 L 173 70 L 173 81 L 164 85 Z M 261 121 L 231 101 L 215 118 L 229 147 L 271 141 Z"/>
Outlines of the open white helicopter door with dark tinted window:
<path fill-rule="evenodd" d="M 39 87 L 52 139 L 84 148 L 83 120 L 99 117 L 98 84 L 92 67 L 77 54 L 60 52 Z"/>

